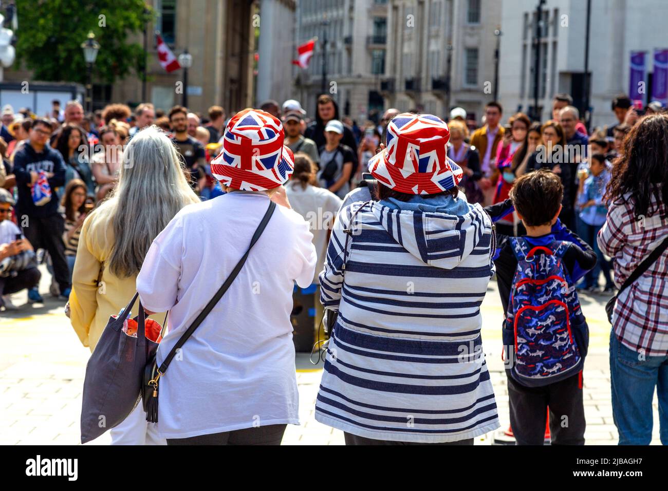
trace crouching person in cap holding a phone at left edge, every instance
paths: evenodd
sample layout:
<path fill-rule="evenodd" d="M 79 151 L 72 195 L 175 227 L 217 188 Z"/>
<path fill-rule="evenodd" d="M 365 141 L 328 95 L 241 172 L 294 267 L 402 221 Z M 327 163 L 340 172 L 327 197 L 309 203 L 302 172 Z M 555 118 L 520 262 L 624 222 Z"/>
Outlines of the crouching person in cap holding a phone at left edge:
<path fill-rule="evenodd" d="M 18 309 L 9 295 L 37 286 L 41 277 L 32 244 L 9 220 L 14 204 L 11 193 L 0 188 L 0 308 L 5 310 Z"/>

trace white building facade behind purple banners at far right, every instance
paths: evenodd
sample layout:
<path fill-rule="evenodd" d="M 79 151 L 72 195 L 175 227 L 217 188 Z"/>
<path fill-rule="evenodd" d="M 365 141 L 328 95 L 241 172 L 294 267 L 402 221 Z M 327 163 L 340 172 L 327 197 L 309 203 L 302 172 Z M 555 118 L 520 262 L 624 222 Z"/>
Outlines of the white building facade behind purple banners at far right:
<path fill-rule="evenodd" d="M 663 0 L 591 0 L 589 84 L 591 128 L 615 124 L 611 100 L 629 92 L 631 51 L 646 51 L 647 94 L 653 49 L 668 48 Z M 554 94 L 570 94 L 584 110 L 587 2 L 546 0 L 541 14 L 538 110 L 551 117 Z M 500 54 L 500 99 L 512 110 L 535 106 L 536 0 L 504 1 Z M 647 96 L 649 102 L 651 97 Z M 582 116 L 582 114 L 580 114 Z"/>

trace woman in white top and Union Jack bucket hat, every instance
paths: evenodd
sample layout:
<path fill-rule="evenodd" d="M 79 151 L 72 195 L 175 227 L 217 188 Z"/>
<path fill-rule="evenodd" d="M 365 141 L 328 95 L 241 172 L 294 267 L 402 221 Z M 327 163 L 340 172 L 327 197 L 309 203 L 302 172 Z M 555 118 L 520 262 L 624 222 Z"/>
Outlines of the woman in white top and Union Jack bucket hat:
<path fill-rule="evenodd" d="M 290 314 L 293 287 L 311 285 L 317 255 L 309 224 L 276 199 L 293 154 L 281 122 L 260 110 L 237 113 L 223 138 L 211 170 L 226 194 L 177 214 L 137 278 L 142 305 L 169 311 L 158 365 L 232 280 L 160 377 L 158 431 L 168 445 L 278 445 L 286 425 L 299 424 Z"/>

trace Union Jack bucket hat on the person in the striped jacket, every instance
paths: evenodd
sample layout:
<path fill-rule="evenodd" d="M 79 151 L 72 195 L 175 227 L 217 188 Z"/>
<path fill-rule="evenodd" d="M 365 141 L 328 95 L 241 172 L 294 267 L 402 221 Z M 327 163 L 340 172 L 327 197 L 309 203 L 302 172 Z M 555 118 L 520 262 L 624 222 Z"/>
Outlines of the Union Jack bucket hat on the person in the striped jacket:
<path fill-rule="evenodd" d="M 369 172 L 406 194 L 450 190 L 464 172 L 448 158 L 449 139 L 448 125 L 432 114 L 399 114 L 387 125 L 386 147 L 369 160 Z"/>

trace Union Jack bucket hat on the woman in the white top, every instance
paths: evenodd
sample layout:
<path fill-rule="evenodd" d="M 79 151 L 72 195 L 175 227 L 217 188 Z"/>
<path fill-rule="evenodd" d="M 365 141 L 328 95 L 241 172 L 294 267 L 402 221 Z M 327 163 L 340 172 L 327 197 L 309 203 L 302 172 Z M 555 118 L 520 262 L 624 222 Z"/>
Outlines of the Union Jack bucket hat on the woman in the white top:
<path fill-rule="evenodd" d="M 211 173 L 222 184 L 245 191 L 281 186 L 295 169 L 292 150 L 283 145 L 283 124 L 259 109 L 234 115 L 225 128 L 222 152 Z"/>

